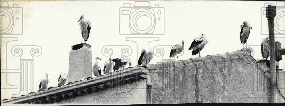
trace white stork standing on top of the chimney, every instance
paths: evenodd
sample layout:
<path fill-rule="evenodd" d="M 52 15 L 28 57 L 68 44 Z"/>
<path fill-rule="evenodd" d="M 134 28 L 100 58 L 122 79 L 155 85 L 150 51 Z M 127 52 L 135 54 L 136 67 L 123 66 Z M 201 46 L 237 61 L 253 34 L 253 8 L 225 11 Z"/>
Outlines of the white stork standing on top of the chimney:
<path fill-rule="evenodd" d="M 79 22 L 79 25 L 80 25 L 82 38 L 84 39 L 84 41 L 87 41 L 88 37 L 89 37 L 89 34 L 90 34 L 91 23 L 90 23 L 89 20 L 86 20 L 84 18 L 84 15 L 80 16 L 80 19 L 78 20 L 78 22 Z M 82 42 L 82 38 L 81 38 L 81 42 Z"/>

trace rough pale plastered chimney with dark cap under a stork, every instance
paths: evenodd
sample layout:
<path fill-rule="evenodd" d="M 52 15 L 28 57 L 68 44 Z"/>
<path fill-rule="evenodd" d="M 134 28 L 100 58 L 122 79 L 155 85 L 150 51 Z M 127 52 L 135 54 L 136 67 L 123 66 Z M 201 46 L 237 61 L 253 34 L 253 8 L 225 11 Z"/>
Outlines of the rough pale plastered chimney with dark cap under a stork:
<path fill-rule="evenodd" d="M 71 46 L 69 52 L 68 82 L 80 80 L 83 77 L 92 77 L 91 45 L 80 43 Z"/>

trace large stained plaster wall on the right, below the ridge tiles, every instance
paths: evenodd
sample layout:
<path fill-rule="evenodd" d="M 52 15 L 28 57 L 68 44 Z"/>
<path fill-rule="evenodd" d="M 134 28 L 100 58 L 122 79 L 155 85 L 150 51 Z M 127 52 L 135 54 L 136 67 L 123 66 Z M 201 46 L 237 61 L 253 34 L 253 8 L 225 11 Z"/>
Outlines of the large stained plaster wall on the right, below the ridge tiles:
<path fill-rule="evenodd" d="M 270 83 L 247 53 L 169 61 L 148 65 L 152 103 L 270 102 Z M 276 90 L 278 102 L 284 97 Z"/>

